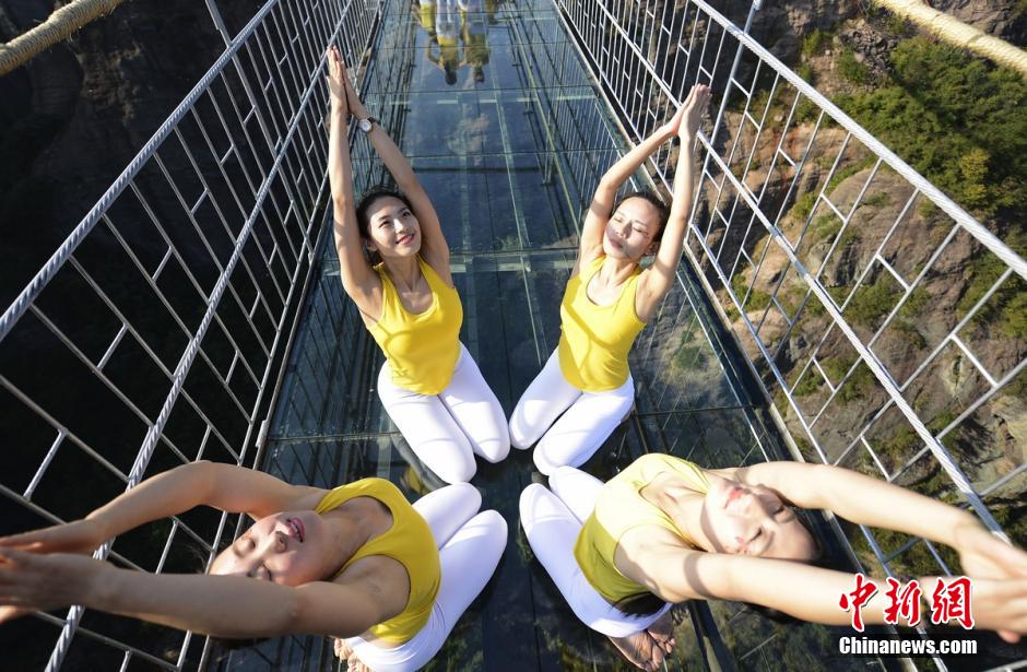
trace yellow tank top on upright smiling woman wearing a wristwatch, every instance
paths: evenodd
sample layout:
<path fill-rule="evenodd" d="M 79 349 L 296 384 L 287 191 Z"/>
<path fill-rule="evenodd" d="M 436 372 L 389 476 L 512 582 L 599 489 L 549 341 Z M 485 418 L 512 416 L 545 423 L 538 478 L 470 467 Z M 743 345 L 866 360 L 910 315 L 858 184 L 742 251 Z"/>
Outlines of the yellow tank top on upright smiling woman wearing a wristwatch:
<path fill-rule="evenodd" d="M 420 255 L 417 263 L 432 288 L 432 306 L 417 315 L 408 313 L 385 264 L 379 263 L 375 270 L 381 279 L 381 318 L 369 331 L 388 359 L 396 387 L 438 394 L 449 385 L 460 358 L 463 306 L 457 290 Z"/>

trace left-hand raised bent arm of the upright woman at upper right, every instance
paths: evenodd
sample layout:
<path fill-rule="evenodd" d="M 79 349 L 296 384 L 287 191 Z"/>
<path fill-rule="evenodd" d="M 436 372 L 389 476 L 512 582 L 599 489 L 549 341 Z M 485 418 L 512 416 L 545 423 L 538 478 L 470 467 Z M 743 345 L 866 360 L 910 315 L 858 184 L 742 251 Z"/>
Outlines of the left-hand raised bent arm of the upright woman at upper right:
<path fill-rule="evenodd" d="M 600 178 L 595 193 L 592 194 L 589 211 L 585 214 L 585 223 L 581 225 L 578 259 L 575 262 L 571 275 L 577 275 L 581 267 L 588 266 L 593 259 L 602 255 L 603 231 L 610 221 L 613 204 L 617 199 L 617 191 L 635 174 L 635 170 L 660 149 L 660 145 L 674 137 L 681 118 L 682 110 L 678 109 L 669 122 L 659 127 L 651 135 L 635 145 Z"/>

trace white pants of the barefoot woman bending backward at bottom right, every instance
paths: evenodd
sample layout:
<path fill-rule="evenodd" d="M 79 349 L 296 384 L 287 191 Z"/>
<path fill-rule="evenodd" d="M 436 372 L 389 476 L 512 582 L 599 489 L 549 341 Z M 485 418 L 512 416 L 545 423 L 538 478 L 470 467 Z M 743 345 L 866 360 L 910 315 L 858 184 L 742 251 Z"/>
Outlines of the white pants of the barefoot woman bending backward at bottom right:
<path fill-rule="evenodd" d="M 602 481 L 571 467 L 560 467 L 550 476 L 550 486 L 552 492 L 532 483 L 521 493 L 521 526 L 535 557 L 575 615 L 609 637 L 627 637 L 652 625 L 671 604 L 645 616 L 625 614 L 592 588 L 575 559 L 578 532 L 595 506 Z"/>

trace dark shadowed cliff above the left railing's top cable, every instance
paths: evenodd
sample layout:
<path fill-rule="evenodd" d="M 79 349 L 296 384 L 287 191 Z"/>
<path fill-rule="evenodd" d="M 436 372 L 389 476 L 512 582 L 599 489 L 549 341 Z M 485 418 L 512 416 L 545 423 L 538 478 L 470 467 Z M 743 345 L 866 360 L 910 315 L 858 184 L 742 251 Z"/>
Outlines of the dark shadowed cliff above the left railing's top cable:
<path fill-rule="evenodd" d="M 0 40 L 52 0 L 0 0 Z M 255 5 L 220 3 L 229 30 Z M 0 78 L 0 303 L 7 305 L 224 49 L 206 5 L 125 2 Z"/>

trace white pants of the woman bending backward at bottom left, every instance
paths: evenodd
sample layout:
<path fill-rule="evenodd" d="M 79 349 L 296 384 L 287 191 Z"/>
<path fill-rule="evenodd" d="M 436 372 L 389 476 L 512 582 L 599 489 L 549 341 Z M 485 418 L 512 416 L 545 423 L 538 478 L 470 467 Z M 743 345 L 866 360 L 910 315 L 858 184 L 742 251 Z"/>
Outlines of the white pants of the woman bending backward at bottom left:
<path fill-rule="evenodd" d="M 414 503 L 439 547 L 442 579 L 428 622 L 413 638 L 385 649 L 351 637 L 346 644 L 375 672 L 412 672 L 442 647 L 460 615 L 482 591 L 506 549 L 506 521 L 498 511 L 477 514 L 482 496 L 473 485 L 457 483 Z M 475 516 L 475 514 L 477 514 Z"/>

